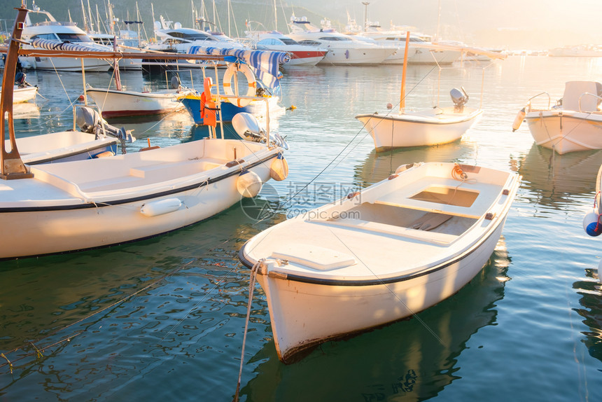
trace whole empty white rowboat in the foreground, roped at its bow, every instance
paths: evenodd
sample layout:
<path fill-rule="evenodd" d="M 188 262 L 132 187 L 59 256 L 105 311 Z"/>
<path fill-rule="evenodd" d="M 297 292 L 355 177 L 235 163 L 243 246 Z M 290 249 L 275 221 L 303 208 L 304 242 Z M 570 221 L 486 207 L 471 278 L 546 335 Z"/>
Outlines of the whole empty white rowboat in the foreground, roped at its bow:
<path fill-rule="evenodd" d="M 279 358 L 456 293 L 491 256 L 519 181 L 477 166 L 404 165 L 248 240 L 239 258 L 265 291 Z"/>

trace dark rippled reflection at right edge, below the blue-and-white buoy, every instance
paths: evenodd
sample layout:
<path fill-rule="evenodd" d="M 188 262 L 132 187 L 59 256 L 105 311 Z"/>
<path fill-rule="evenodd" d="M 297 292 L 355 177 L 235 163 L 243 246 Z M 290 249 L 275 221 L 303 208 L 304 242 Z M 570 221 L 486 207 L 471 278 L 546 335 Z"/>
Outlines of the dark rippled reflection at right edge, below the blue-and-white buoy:
<path fill-rule="evenodd" d="M 573 283 L 573 289 L 580 294 L 580 308 L 575 311 L 583 317 L 583 324 L 589 331 L 582 331 L 581 342 L 594 359 L 602 361 L 602 283 L 599 270 L 587 268 L 585 277 Z"/>

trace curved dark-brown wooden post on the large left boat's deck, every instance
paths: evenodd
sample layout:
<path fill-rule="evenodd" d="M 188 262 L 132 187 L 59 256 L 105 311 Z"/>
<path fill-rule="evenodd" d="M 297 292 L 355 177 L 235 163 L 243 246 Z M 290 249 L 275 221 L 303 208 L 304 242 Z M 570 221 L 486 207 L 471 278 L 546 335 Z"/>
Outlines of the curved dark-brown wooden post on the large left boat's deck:
<path fill-rule="evenodd" d="M 2 113 L 2 125 L 0 126 L 0 137 L 2 139 L 0 153 L 0 179 L 27 179 L 34 175 L 29 173 L 27 167 L 21 160 L 21 155 L 17 149 L 15 140 L 15 127 L 13 125 L 13 86 L 15 85 L 15 73 L 17 71 L 17 60 L 19 57 L 20 39 L 25 27 L 25 16 L 27 8 L 25 3 L 21 4 L 18 11 L 15 26 L 13 27 L 13 36 L 10 38 L 8 53 L 4 61 L 4 76 L 2 77 L 2 96 L 0 99 L 0 113 Z M 10 139 L 10 152 L 6 151 L 6 141 L 4 137 L 5 119 L 8 117 L 8 137 Z"/>

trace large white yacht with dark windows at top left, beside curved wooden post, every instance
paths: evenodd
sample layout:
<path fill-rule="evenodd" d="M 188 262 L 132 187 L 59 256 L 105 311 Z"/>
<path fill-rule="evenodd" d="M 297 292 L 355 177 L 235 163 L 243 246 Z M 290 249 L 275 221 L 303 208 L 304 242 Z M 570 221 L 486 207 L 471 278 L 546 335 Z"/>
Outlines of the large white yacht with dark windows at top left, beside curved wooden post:
<path fill-rule="evenodd" d="M 77 44 L 82 48 L 92 51 L 109 51 L 111 48 L 94 43 L 90 36 L 87 36 L 82 29 L 76 27 L 73 22 L 57 22 L 48 11 L 42 11 L 34 7 L 30 13 L 45 16 L 46 20 L 32 24 L 27 15 L 25 29 L 23 29 L 22 39 L 27 42 L 50 43 L 50 48 L 62 44 Z M 23 48 L 33 48 L 30 44 L 23 45 Z M 27 57 L 20 58 L 22 67 L 28 69 L 57 70 L 57 71 L 109 71 L 111 64 L 102 59 L 76 59 L 71 57 Z"/>

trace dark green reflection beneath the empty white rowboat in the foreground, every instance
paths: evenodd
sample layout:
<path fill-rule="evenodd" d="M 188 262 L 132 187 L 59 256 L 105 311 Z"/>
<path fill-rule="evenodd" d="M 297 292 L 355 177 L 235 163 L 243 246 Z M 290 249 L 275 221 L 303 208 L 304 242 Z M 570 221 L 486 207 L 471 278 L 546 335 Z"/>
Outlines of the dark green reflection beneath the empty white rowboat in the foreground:
<path fill-rule="evenodd" d="M 496 323 L 496 302 L 504 297 L 509 265 L 502 237 L 489 263 L 470 283 L 420 312 L 419 319 L 326 342 L 297 363 L 281 363 L 269 340 L 251 358 L 249 363 L 261 363 L 241 395 L 246 401 L 288 402 L 431 398 L 460 379 L 454 375 L 460 370 L 458 356 L 470 337 Z"/>

